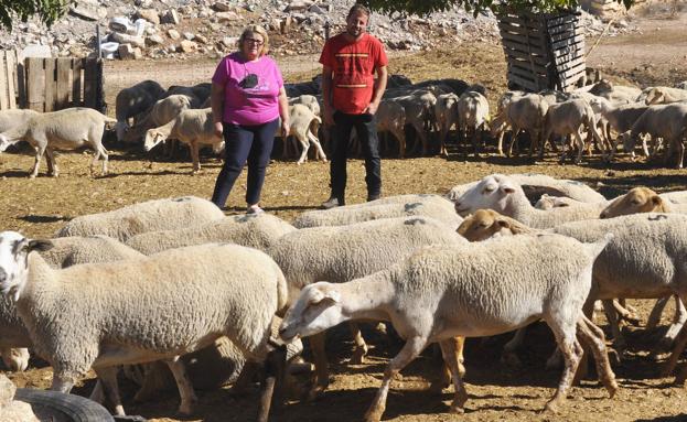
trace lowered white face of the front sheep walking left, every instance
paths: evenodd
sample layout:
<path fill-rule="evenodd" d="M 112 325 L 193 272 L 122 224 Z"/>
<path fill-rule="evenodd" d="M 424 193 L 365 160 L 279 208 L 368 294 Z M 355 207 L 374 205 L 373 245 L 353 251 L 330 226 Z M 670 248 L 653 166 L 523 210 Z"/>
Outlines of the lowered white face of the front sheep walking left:
<path fill-rule="evenodd" d="M 279 327 L 285 342 L 321 333 L 345 321 L 341 295 L 328 282 L 310 284 L 303 289 Z"/>

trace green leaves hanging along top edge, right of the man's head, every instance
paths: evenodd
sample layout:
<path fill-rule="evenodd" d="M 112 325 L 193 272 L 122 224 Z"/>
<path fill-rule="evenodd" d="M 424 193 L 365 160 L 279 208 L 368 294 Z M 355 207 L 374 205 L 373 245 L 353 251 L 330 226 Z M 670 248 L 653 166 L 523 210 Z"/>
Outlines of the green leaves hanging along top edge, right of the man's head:
<path fill-rule="evenodd" d="M 616 0 L 625 8 L 634 3 L 635 0 Z M 453 6 L 462 6 L 466 11 L 472 11 L 475 15 L 482 11 L 491 9 L 495 13 L 511 12 L 556 12 L 560 10 L 575 9 L 578 0 L 515 0 L 515 1 L 494 1 L 494 0 L 363 0 L 367 7 L 384 13 L 398 12 L 401 14 L 426 15 L 432 12 L 441 12 Z"/>

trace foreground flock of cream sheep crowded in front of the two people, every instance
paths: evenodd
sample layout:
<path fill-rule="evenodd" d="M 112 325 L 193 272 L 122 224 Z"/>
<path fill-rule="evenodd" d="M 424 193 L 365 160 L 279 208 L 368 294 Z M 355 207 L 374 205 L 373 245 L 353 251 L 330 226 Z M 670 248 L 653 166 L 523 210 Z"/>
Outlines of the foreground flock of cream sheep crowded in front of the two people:
<path fill-rule="evenodd" d="M 52 365 L 52 388 L 65 392 L 93 368 L 92 399 L 117 414 L 125 413 L 120 366 L 141 386 L 139 400 L 170 383 L 169 368 L 179 410 L 189 413 L 194 386 L 212 378 L 213 387 L 240 389 L 265 365 L 258 419 L 266 420 L 289 374 L 313 371 L 310 398 L 326 390 L 328 328 L 348 322 L 351 361 L 362 363 L 368 347 L 356 322 L 388 322 L 405 345 L 366 414 L 378 421 L 395 375 L 428 345 L 439 344 L 444 366 L 431 388 L 452 382 L 451 411 L 462 412 L 464 337 L 517 329 L 504 348 L 513 361 L 525 327 L 543 320 L 558 346 L 547 365 L 563 365 L 547 403 L 556 411 L 587 351 L 609 394 L 619 389 L 592 322 L 597 301 L 622 356 L 619 322 L 636 320 L 624 300 L 658 299 L 656 325 L 675 296 L 663 339 L 675 343 L 666 374 L 675 367 L 687 344 L 685 210 L 686 192 L 634 188 L 607 199 L 533 174 L 490 175 L 447 196 L 305 212 L 292 224 L 225 216 L 196 197 L 139 203 L 76 217 L 51 240 L 0 232 L 0 354 L 23 370 L 32 349 Z M 300 357 L 304 337 L 314 370 Z"/>

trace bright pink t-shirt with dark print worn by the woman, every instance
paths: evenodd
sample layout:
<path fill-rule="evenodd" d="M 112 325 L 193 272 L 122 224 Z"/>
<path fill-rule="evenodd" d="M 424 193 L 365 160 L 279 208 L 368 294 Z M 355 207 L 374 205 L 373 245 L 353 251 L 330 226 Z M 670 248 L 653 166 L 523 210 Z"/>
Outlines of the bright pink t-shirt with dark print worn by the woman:
<path fill-rule="evenodd" d="M 239 83 L 248 74 L 258 77 L 253 88 L 241 88 Z M 225 56 L 213 83 L 224 86 L 224 121 L 235 125 L 262 125 L 279 117 L 279 89 L 283 86 L 277 63 L 268 56 L 247 62 L 239 53 Z"/>

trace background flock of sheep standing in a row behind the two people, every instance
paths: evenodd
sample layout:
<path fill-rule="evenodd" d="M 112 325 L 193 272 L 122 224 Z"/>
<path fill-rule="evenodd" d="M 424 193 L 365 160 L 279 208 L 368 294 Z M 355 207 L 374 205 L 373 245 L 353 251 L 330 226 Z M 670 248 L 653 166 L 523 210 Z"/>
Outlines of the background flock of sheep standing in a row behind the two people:
<path fill-rule="evenodd" d="M 508 90 L 498 98 L 496 110 L 492 112 L 485 89 L 480 85 L 468 85 L 460 79 L 411 84 L 401 75 L 391 75 L 376 113 L 377 130 L 396 140 L 397 147 L 389 148 L 388 142 L 383 145 L 398 151 L 399 158 L 418 149 L 423 155 L 436 151 L 448 155 L 447 142 L 452 138 L 451 129 L 455 128 L 459 143 L 471 141 L 475 156 L 485 148 L 486 133 L 494 139 L 494 147 L 502 155 L 504 138 L 509 134 L 505 151 L 511 155 L 518 149 L 522 138 L 518 134 L 525 132 L 529 156 L 538 152 L 543 159 L 548 143 L 551 150 L 560 153 L 561 162 L 567 154 L 575 154 L 573 161 L 579 163 L 583 151 L 591 153 L 595 144 L 602 158 L 611 161 L 620 143 L 633 156 L 635 145 L 641 143 L 645 156 L 657 155 L 663 150 L 666 163 L 672 161 L 681 167 L 687 138 L 686 85 L 642 90 L 601 79 L 572 93 Z M 98 158 L 103 158 L 103 173 L 106 173 L 108 152 L 101 138 L 104 126 L 115 123 L 120 144 L 142 144 L 146 151 L 161 142 L 187 144 L 195 173 L 201 169 L 201 147 L 211 145 L 216 153 L 224 148 L 222 138 L 214 133 L 210 90 L 210 84 L 171 86 L 165 90 L 157 82 L 143 80 L 118 93 L 116 121 L 85 108 L 47 113 L 0 111 L 0 151 L 25 140 L 36 151 L 31 177 L 37 175 L 44 153 L 49 174 L 56 176 L 58 170 L 53 151 L 87 145 L 96 152 L 92 174 Z M 282 158 L 288 159 L 291 150 L 298 154 L 298 141 L 299 164 L 308 160 L 311 144 L 316 159 L 326 161 L 329 132 L 321 130 L 319 79 L 288 84 L 287 94 L 290 131 L 285 136 L 279 129 L 275 134 L 285 139 Z M 406 144 L 407 134 L 417 140 L 415 145 Z M 292 143 L 287 141 L 289 139 Z M 352 142 L 355 142 L 354 134 Z M 468 145 L 462 148 L 466 155 Z"/>

